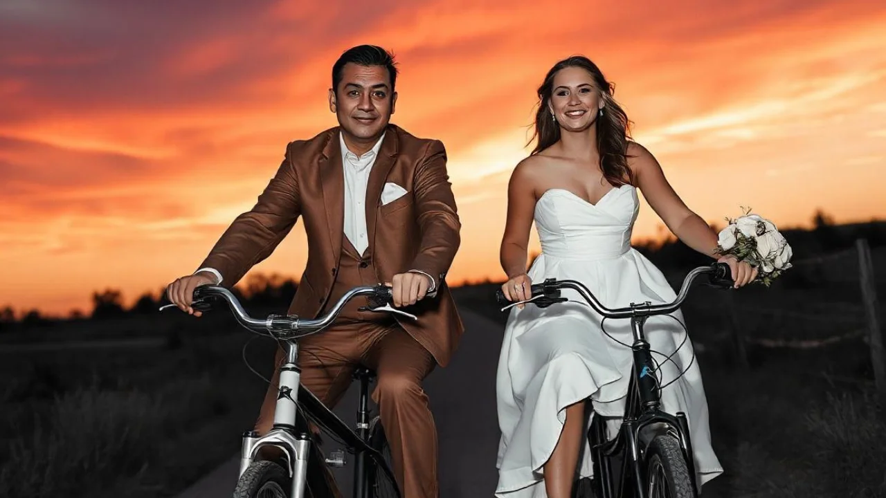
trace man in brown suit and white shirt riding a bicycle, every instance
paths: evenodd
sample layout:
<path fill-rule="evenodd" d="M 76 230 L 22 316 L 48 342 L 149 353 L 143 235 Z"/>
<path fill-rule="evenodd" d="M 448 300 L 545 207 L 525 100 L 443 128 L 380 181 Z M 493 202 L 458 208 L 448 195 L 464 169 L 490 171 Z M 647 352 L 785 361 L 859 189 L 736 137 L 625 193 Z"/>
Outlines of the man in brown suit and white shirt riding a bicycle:
<path fill-rule="evenodd" d="M 264 260 L 299 215 L 307 266 L 289 312 L 315 317 L 355 285 L 392 285 L 393 305 L 417 322 L 361 312 L 352 301 L 328 330 L 299 343 L 301 382 L 334 407 L 358 364 L 377 371 L 372 394 L 406 498 L 436 497 L 437 432 L 422 389 L 436 364 L 446 366 L 462 322 L 445 277 L 460 244 L 461 223 L 437 140 L 389 124 L 397 93 L 390 53 L 362 45 L 332 66 L 330 111 L 339 126 L 286 148 L 283 164 L 251 211 L 241 214 L 191 276 L 170 284 L 169 299 L 190 307 L 198 285 L 234 285 Z M 435 297 L 427 297 L 436 293 Z M 282 350 L 256 431 L 273 424 Z"/>

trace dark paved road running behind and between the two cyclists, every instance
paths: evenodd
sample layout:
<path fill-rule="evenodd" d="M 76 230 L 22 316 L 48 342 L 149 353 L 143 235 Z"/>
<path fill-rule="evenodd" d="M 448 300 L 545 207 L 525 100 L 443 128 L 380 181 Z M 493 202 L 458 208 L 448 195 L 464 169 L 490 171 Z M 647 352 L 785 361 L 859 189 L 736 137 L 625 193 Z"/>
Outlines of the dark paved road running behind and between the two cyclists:
<path fill-rule="evenodd" d="M 502 328 L 464 307 L 460 313 L 466 330 L 455 358 L 446 369 L 431 372 L 424 384 L 437 423 L 440 495 L 447 498 L 492 496 L 498 480 L 495 470 L 499 440 L 495 369 Z M 346 399 L 335 410 L 352 426 L 357 392 L 358 385 L 354 383 Z M 230 496 L 237 480 L 238 465 L 239 455 L 235 455 L 185 490 L 179 498 Z M 350 464 L 336 470 L 344 496 L 350 496 L 353 472 Z"/>

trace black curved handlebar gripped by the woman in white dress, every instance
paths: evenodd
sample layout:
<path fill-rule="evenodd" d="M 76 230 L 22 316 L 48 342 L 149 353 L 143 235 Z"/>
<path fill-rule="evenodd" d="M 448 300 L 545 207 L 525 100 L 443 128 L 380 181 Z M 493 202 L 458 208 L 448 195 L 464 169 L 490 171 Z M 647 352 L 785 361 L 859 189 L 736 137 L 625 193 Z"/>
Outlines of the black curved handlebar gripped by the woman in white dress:
<path fill-rule="evenodd" d="M 603 306 L 590 292 L 587 287 L 574 280 L 556 280 L 548 278 L 541 284 L 532 284 L 532 297 L 524 301 L 510 301 L 504 296 L 504 292 L 498 290 L 495 292 L 495 298 L 501 306 L 501 311 L 518 304 L 527 303 L 534 304 L 538 307 L 548 307 L 557 302 L 564 302 L 567 299 L 560 297 L 561 289 L 572 289 L 579 292 L 579 295 L 587 301 L 587 303 L 595 309 L 597 313 L 606 318 L 631 318 L 634 316 L 651 316 L 651 315 L 667 315 L 683 304 L 689 292 L 689 286 L 697 276 L 709 274 L 710 283 L 718 287 L 731 287 L 734 282 L 731 277 L 731 270 L 726 263 L 713 263 L 710 266 L 693 268 L 689 271 L 686 278 L 683 279 L 683 285 L 677 299 L 670 303 L 651 304 L 649 302 L 635 304 L 631 303 L 629 307 L 610 308 Z"/>

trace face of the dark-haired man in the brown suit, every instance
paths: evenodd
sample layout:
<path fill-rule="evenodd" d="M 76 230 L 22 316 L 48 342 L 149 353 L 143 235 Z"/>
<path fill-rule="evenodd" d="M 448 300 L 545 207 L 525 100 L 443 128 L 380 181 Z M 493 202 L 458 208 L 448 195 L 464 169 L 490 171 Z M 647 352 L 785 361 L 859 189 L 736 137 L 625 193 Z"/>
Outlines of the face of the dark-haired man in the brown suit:
<path fill-rule="evenodd" d="M 330 111 L 344 132 L 358 142 L 374 142 L 382 133 L 397 103 L 385 66 L 348 63 L 337 89 L 330 89 Z"/>

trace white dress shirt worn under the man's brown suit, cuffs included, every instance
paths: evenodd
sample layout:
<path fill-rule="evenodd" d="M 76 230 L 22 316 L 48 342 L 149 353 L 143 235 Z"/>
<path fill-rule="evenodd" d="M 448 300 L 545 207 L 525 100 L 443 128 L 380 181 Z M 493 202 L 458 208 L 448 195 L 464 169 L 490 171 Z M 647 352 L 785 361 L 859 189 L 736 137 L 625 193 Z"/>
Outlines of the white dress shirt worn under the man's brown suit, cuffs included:
<path fill-rule="evenodd" d="M 366 187 L 369 184 L 369 173 L 376 163 L 378 151 L 382 148 L 385 134 L 382 134 L 372 149 L 358 156 L 348 150 L 345 137 L 338 134 L 338 144 L 341 146 L 341 162 L 345 172 L 345 237 L 354 245 L 357 253 L 366 252 L 369 246 L 369 234 L 366 229 Z M 221 284 L 221 272 L 215 268 L 200 268 L 194 273 L 208 271 L 216 278 L 216 284 Z M 437 282 L 424 271 L 410 269 L 409 271 L 421 273 L 431 281 L 428 292 L 437 289 Z"/>

